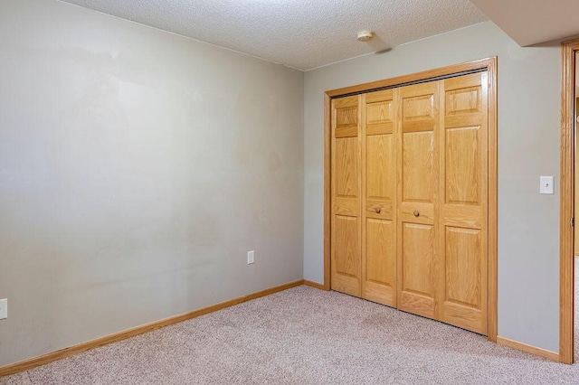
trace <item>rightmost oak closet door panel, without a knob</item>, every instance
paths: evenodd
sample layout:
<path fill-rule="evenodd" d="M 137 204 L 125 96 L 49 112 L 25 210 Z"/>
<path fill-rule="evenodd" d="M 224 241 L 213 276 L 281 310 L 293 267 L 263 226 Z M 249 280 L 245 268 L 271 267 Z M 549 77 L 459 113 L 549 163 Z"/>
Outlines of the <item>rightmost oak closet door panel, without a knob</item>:
<path fill-rule="evenodd" d="M 487 72 L 441 81 L 440 320 L 486 334 Z"/>

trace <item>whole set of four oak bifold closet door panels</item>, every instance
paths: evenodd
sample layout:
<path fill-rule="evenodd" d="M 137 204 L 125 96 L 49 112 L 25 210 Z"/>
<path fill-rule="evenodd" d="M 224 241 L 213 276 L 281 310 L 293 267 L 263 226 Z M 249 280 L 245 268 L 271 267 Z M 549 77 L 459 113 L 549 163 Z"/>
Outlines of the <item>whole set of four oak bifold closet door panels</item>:
<path fill-rule="evenodd" d="M 487 333 L 486 70 L 331 100 L 331 288 Z"/>

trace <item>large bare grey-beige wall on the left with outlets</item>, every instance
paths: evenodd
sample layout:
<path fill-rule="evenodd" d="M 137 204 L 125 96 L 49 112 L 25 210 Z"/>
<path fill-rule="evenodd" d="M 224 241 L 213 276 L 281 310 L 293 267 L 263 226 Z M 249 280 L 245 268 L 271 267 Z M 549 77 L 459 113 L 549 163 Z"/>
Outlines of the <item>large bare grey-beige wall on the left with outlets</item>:
<path fill-rule="evenodd" d="M 0 366 L 302 278 L 302 72 L 53 0 L 0 62 Z"/>

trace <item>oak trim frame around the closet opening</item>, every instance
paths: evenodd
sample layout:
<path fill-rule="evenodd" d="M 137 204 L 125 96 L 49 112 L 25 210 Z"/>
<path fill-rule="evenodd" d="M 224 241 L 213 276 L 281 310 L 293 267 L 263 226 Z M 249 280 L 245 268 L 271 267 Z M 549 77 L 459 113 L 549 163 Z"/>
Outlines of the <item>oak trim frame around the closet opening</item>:
<path fill-rule="evenodd" d="M 347 94 L 368 92 L 413 81 L 427 81 L 442 76 L 470 71 L 487 70 L 489 74 L 489 268 L 488 268 L 488 324 L 489 341 L 497 342 L 497 57 L 470 61 L 434 70 L 425 70 L 392 79 L 378 80 L 324 93 L 324 288 L 330 289 L 330 102 Z M 562 153 L 563 154 L 563 153 Z M 572 329 L 573 330 L 573 329 Z"/>

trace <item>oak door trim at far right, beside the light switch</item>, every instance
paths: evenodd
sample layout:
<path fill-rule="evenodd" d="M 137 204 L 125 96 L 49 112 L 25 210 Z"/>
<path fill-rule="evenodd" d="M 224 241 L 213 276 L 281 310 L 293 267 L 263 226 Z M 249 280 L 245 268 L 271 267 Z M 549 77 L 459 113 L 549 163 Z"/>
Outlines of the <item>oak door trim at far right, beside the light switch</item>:
<path fill-rule="evenodd" d="M 574 72 L 579 40 L 562 42 L 561 203 L 559 222 L 559 361 L 574 357 Z"/>

